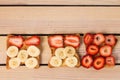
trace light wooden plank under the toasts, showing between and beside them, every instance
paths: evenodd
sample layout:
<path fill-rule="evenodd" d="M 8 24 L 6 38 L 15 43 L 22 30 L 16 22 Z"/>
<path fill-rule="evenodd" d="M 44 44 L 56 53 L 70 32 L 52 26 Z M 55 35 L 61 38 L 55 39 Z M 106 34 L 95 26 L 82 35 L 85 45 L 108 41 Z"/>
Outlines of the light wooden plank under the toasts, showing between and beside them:
<path fill-rule="evenodd" d="M 48 45 L 48 37 L 47 36 L 40 36 L 41 37 L 41 63 L 40 64 L 48 64 L 48 61 L 51 57 L 51 50 L 50 47 Z M 115 48 L 113 49 L 113 55 L 116 58 L 116 64 L 120 64 L 120 36 L 116 36 L 118 39 L 118 42 L 115 46 Z M 6 64 L 6 39 L 7 36 L 0 36 L 0 64 Z M 86 49 L 85 49 L 85 45 L 83 43 L 82 40 L 82 36 L 81 36 L 81 46 L 79 48 L 79 55 L 83 56 L 86 54 Z"/>

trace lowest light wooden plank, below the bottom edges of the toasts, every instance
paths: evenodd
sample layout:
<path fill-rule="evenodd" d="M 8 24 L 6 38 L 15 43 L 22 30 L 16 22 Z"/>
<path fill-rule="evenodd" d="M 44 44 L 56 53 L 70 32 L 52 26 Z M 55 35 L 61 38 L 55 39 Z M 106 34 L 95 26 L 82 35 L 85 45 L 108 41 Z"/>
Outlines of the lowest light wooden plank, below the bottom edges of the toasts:
<path fill-rule="evenodd" d="M 90 68 L 48 68 L 42 66 L 39 69 L 17 69 L 6 70 L 0 66 L 1 80 L 119 80 L 120 66 L 114 68 L 103 68 L 99 71 Z"/>

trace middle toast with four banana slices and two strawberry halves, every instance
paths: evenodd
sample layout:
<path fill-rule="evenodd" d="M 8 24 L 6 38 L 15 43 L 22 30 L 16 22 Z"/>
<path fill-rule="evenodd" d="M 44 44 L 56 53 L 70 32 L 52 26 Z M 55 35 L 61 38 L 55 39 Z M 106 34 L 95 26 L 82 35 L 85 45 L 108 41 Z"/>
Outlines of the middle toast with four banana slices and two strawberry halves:
<path fill-rule="evenodd" d="M 48 37 L 51 48 L 51 58 L 48 67 L 80 67 L 79 34 L 51 35 Z"/>

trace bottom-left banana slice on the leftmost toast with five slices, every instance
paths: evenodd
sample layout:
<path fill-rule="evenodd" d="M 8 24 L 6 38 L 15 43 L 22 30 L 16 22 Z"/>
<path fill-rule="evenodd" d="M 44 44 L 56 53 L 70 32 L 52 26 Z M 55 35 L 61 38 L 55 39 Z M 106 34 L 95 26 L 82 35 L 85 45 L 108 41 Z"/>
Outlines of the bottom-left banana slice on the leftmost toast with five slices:
<path fill-rule="evenodd" d="M 11 58 L 9 60 L 9 67 L 15 69 L 20 66 L 20 60 L 18 58 Z"/>

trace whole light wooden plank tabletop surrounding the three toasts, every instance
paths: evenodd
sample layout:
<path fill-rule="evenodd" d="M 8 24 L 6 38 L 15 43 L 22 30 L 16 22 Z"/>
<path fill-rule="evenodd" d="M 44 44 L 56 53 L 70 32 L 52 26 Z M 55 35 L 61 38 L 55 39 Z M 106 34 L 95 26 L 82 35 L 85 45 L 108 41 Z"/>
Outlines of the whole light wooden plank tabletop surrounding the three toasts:
<path fill-rule="evenodd" d="M 0 5 L 24 5 L 0 6 L 0 80 L 120 79 L 120 0 L 0 0 Z M 6 34 L 45 35 L 86 32 L 116 34 L 118 44 L 113 51 L 116 57 L 114 68 L 104 68 L 99 71 L 83 67 L 48 68 L 46 64 L 50 58 L 50 49 L 47 36 L 42 36 L 43 52 L 39 69 L 27 69 L 21 66 L 14 70 L 6 70 Z M 85 54 L 84 44 L 81 44 L 79 53 Z"/>

